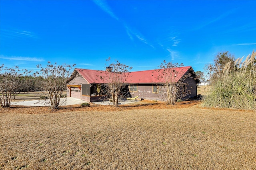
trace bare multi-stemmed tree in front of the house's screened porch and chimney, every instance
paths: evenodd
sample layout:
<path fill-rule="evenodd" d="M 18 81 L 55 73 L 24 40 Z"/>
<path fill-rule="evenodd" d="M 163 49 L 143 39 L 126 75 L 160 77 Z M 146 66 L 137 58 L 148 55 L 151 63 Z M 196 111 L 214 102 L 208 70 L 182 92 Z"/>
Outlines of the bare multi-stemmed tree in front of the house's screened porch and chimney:
<path fill-rule="evenodd" d="M 128 70 L 130 69 L 132 67 L 129 68 L 129 66 L 116 60 L 116 63 L 112 63 L 107 67 L 108 71 L 105 72 L 104 76 L 99 76 L 105 82 L 102 84 L 103 93 L 106 94 L 108 100 L 112 100 L 115 107 L 118 107 L 120 93 L 127 85 L 126 79 L 129 76 Z"/>

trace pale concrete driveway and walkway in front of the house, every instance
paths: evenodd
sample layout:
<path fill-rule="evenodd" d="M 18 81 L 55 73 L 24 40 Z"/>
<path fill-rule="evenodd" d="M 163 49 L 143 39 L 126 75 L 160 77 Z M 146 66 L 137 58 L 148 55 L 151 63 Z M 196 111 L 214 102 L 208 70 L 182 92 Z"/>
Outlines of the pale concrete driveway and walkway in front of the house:
<path fill-rule="evenodd" d="M 120 104 L 130 104 L 136 101 L 125 100 L 121 101 Z M 78 98 L 61 98 L 60 99 L 60 106 L 68 106 L 74 104 L 82 104 L 87 103 L 84 100 L 80 100 Z M 94 104 L 100 105 L 109 105 L 110 102 L 94 102 Z M 111 103 L 112 104 L 112 103 Z M 50 100 L 30 100 L 30 101 L 23 101 L 23 102 L 11 102 L 11 105 L 19 105 L 19 106 L 50 106 Z"/>

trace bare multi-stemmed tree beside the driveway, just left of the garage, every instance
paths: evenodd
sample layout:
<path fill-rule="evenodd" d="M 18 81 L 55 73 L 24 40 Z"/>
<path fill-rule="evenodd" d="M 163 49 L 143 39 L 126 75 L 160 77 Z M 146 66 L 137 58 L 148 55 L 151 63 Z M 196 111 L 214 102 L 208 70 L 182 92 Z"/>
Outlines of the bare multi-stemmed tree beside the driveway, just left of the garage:
<path fill-rule="evenodd" d="M 49 61 L 45 68 L 41 65 L 37 65 L 37 68 L 40 68 L 40 70 L 35 72 L 34 76 L 41 77 L 39 86 L 46 91 L 50 99 L 49 105 L 51 108 L 57 109 L 63 90 L 66 89 L 66 80 L 71 74 L 72 66 L 66 64 L 57 65 L 57 63 L 51 64 Z"/>

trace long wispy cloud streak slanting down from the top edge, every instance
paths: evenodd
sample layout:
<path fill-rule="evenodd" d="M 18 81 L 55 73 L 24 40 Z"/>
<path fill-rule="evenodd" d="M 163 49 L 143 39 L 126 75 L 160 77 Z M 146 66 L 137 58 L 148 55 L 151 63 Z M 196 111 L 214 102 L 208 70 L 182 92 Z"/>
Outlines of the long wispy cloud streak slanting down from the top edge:
<path fill-rule="evenodd" d="M 114 14 L 106 0 L 92 0 L 97 6 L 99 6 L 103 11 L 105 11 L 107 14 L 109 14 L 112 18 L 116 19 L 117 21 L 120 21 L 124 25 L 124 28 L 126 29 L 126 33 L 129 36 L 131 40 L 134 40 L 134 37 L 138 40 L 142 41 L 143 43 L 149 45 L 150 47 L 154 48 L 153 45 L 148 43 L 147 39 L 139 32 L 136 31 L 136 29 L 131 29 L 124 21 L 121 21 L 118 16 Z"/>

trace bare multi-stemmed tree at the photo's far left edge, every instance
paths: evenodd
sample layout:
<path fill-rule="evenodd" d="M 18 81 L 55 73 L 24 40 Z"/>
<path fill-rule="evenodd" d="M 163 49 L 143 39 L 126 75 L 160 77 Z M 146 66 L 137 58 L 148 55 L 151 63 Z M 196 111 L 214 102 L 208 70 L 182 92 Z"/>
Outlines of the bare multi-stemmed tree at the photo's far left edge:
<path fill-rule="evenodd" d="M 13 68 L 0 66 L 0 105 L 1 107 L 10 107 L 12 94 L 22 85 L 20 77 L 28 73 L 28 70 L 19 70 L 18 66 Z"/>

